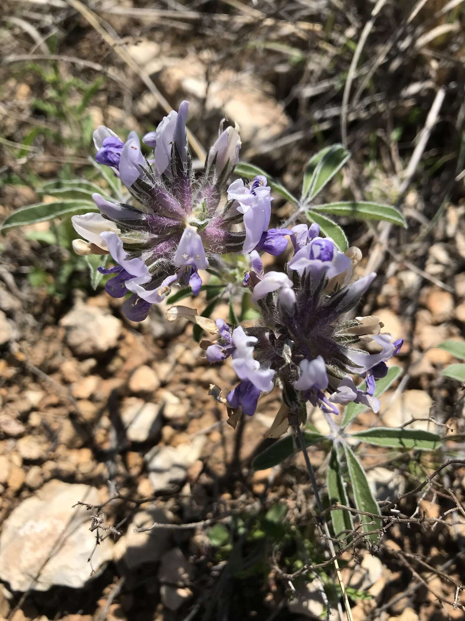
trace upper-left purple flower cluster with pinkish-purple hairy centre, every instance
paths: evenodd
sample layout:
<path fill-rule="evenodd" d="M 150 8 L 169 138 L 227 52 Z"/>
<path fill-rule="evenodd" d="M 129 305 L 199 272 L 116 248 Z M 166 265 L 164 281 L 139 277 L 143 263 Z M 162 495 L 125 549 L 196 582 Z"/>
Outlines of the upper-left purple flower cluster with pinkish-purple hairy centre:
<path fill-rule="evenodd" d="M 126 142 L 107 127 L 94 132 L 95 160 L 109 166 L 128 189 L 128 202 L 108 201 L 96 193 L 99 213 L 74 215 L 74 229 L 84 237 L 74 245 L 79 254 L 109 253 L 117 266 L 106 290 L 110 296 L 132 295 L 123 311 L 142 320 L 152 304 L 161 302 L 174 283 L 190 285 L 197 295 L 199 271 L 215 256 L 271 247 L 267 228 L 271 215 L 270 188 L 263 176 L 244 185 L 240 179 L 221 193 L 239 161 L 241 140 L 232 127 L 223 130 L 211 147 L 200 179 L 195 179 L 185 122 L 188 102 L 172 111 L 143 142 L 153 150 L 145 158 L 136 132 Z M 242 222 L 244 230 L 237 230 Z M 272 235 L 273 236 L 273 235 Z M 281 238 L 281 250 L 286 240 Z M 284 239 L 284 242 L 282 240 Z M 261 244 L 261 245 L 260 245 Z"/>

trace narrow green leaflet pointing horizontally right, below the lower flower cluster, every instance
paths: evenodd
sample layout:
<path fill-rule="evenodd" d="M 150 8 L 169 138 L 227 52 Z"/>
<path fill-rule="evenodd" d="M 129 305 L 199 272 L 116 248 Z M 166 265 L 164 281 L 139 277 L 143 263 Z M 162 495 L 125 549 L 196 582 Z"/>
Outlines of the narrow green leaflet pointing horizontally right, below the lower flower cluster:
<path fill-rule="evenodd" d="M 464 365 L 465 366 L 465 365 Z M 437 433 L 423 431 L 421 429 L 374 427 L 366 431 L 358 431 L 350 434 L 351 438 L 376 444 L 377 446 L 392 446 L 394 448 L 418 448 L 432 451 L 439 448 L 442 438 Z"/>

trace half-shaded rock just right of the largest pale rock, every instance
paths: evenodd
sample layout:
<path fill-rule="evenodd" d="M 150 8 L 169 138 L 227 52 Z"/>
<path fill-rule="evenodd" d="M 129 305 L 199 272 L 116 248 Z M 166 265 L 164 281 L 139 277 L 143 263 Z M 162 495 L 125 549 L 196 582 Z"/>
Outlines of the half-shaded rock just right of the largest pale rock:
<path fill-rule="evenodd" d="M 170 548 L 170 531 L 154 528 L 136 533 L 136 528 L 147 528 L 157 522 L 170 524 L 173 516 L 164 509 L 148 508 L 138 511 L 123 537 L 115 543 L 115 561 L 123 561 L 128 569 L 145 563 L 157 563 Z"/>

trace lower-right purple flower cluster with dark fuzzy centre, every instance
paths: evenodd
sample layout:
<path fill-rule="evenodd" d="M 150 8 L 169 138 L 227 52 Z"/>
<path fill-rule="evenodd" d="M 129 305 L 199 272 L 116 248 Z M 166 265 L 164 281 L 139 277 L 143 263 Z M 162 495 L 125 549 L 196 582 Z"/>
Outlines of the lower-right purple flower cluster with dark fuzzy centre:
<path fill-rule="evenodd" d="M 340 252 L 330 238 L 320 237 L 317 225 L 281 230 L 294 247 L 286 272 L 264 273 L 255 246 L 244 278 L 262 312 L 262 325 L 249 329 L 250 335 L 241 327 L 231 335 L 228 325 L 217 320 L 218 342 L 206 351 L 211 362 L 232 357 L 241 382 L 229 393 L 229 406 L 253 414 L 260 392 L 277 384 L 294 414 L 305 402 L 325 414 L 339 414 L 337 404 L 348 402 L 378 412 L 376 379 L 386 375 L 386 360 L 403 341 L 381 333 L 378 317 L 347 316 L 376 274 L 354 279 L 360 250 Z M 356 386 L 354 375 L 365 378 L 365 389 Z"/>

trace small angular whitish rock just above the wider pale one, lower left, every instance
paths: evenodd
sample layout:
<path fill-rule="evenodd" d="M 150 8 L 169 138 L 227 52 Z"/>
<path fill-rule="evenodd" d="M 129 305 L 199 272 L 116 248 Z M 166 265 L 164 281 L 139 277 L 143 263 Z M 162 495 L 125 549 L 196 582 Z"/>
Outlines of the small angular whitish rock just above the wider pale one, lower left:
<path fill-rule="evenodd" d="M 126 428 L 126 437 L 131 442 L 147 442 L 158 437 L 162 418 L 159 406 L 146 403 L 137 397 L 124 400 L 121 418 Z"/>

